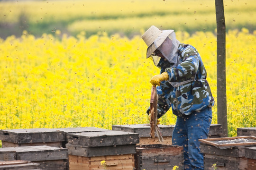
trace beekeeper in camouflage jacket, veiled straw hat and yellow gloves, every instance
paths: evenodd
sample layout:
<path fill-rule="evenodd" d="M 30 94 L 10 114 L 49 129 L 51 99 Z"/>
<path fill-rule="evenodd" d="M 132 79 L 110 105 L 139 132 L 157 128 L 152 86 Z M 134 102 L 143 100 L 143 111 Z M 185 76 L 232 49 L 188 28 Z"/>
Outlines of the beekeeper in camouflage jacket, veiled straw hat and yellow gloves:
<path fill-rule="evenodd" d="M 199 139 L 208 137 L 214 98 L 201 56 L 192 45 L 180 43 L 174 30 L 151 26 L 142 39 L 147 45 L 146 58 L 160 68 L 160 74 L 150 80 L 157 85 L 157 119 L 172 108 L 177 116 L 172 144 L 183 146 L 183 167 L 203 170 Z M 146 112 L 149 115 L 150 108 Z"/>

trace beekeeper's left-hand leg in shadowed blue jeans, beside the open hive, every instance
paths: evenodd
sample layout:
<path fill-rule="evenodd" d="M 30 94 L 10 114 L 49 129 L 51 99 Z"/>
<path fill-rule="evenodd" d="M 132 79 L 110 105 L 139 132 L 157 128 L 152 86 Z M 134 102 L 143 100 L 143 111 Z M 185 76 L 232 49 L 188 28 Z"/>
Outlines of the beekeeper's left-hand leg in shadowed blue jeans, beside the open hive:
<path fill-rule="evenodd" d="M 191 170 L 191 163 L 188 155 L 188 135 L 184 118 L 177 117 L 172 136 L 172 144 L 183 146 L 184 170 Z"/>

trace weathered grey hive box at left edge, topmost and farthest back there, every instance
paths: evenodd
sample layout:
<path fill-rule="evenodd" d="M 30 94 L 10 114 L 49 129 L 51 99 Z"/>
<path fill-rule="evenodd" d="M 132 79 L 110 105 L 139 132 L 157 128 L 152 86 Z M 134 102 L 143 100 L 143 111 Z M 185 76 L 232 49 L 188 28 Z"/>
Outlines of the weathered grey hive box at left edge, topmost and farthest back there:
<path fill-rule="evenodd" d="M 64 132 L 50 128 L 0 130 L 2 147 L 48 145 L 62 147 Z"/>

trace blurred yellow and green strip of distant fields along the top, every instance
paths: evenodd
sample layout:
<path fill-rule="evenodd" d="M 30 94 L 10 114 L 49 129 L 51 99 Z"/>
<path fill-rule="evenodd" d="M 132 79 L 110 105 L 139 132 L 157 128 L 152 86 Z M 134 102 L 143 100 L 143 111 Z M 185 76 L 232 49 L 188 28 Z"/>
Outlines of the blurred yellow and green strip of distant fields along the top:
<path fill-rule="evenodd" d="M 214 0 L 0 0 L 0 38 L 43 33 L 85 36 L 107 32 L 132 37 L 149 26 L 214 32 Z M 224 0 L 227 30 L 256 27 L 254 0 Z"/>

